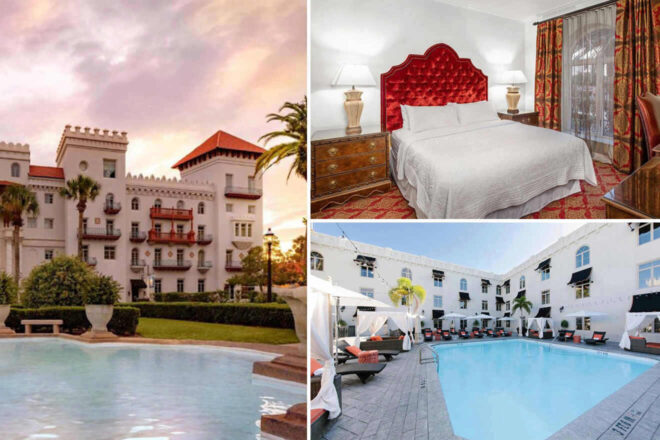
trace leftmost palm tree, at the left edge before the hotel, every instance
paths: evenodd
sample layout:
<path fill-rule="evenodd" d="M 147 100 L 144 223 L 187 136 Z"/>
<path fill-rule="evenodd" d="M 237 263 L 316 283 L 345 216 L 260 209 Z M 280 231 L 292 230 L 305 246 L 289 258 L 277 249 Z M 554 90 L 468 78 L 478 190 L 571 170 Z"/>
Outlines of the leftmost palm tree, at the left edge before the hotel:
<path fill-rule="evenodd" d="M 5 225 L 12 225 L 12 247 L 14 248 L 14 280 L 16 284 L 21 277 L 21 227 L 23 214 L 37 215 L 39 202 L 34 192 L 23 185 L 9 185 L 0 196 L 0 216 Z"/>

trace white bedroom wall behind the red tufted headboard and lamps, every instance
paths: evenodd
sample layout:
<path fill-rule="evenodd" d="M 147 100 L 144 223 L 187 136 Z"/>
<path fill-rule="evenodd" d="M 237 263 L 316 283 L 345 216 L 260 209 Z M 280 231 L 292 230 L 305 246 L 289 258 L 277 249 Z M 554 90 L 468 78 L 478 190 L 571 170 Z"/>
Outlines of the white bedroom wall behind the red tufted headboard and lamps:
<path fill-rule="evenodd" d="M 367 64 L 380 83 L 381 73 L 437 43 L 488 75 L 489 98 L 503 108 L 506 87 L 494 83 L 494 74 L 525 67 L 524 41 L 521 22 L 434 0 L 312 0 L 311 131 L 346 126 L 344 88 L 330 85 L 341 64 Z M 533 93 L 533 82 L 521 92 L 528 88 Z M 362 126 L 380 125 L 379 87 L 362 90 Z"/>

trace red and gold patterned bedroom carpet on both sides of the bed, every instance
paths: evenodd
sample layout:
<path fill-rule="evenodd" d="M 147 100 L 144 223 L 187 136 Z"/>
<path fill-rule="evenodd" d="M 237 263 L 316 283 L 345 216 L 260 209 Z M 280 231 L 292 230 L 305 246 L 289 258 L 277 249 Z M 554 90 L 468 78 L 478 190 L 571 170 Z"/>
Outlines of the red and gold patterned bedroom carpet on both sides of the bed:
<path fill-rule="evenodd" d="M 585 219 L 605 218 L 605 205 L 600 198 L 613 186 L 621 182 L 626 174 L 620 173 L 612 165 L 594 162 L 597 186 L 580 183 L 582 192 L 550 203 L 548 206 L 525 218 L 532 219 Z M 312 214 L 314 219 L 414 219 L 415 211 L 408 206 L 398 188 L 386 194 L 366 199 L 351 200 Z"/>

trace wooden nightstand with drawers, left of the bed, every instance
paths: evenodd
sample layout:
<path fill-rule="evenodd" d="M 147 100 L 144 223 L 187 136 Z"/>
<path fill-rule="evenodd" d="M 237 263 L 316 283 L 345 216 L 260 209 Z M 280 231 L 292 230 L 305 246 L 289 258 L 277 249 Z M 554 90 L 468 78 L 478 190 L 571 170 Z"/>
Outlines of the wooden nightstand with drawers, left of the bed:
<path fill-rule="evenodd" d="M 312 136 L 312 212 L 354 197 L 390 190 L 390 134 L 380 127 L 363 127 L 346 135 L 344 129 Z"/>

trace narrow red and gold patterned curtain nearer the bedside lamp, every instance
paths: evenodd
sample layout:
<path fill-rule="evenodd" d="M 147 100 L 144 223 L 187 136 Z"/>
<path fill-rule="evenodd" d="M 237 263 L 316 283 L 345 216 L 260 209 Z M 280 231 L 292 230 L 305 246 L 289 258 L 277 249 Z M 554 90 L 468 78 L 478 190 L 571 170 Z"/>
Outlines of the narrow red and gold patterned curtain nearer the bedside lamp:
<path fill-rule="evenodd" d="M 540 23 L 536 28 L 534 108 L 541 127 L 561 130 L 561 51 L 563 20 Z"/>

